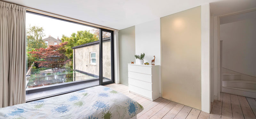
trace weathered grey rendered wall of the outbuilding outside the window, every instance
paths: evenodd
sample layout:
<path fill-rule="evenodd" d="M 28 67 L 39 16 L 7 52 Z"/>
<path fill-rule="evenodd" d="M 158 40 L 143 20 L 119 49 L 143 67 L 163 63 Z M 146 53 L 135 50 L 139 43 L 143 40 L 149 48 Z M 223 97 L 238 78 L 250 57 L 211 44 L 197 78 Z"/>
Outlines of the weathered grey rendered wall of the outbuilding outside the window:
<path fill-rule="evenodd" d="M 103 77 L 111 79 L 111 44 L 103 42 Z M 74 49 L 73 49 L 74 51 Z M 90 64 L 90 52 L 96 52 L 96 65 Z M 99 45 L 75 48 L 74 68 L 99 76 Z"/>

